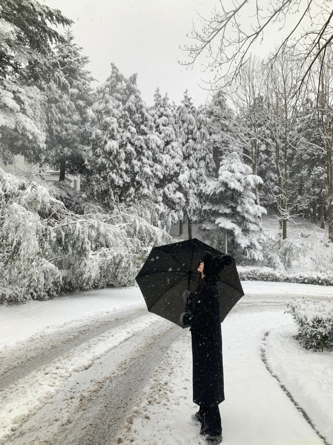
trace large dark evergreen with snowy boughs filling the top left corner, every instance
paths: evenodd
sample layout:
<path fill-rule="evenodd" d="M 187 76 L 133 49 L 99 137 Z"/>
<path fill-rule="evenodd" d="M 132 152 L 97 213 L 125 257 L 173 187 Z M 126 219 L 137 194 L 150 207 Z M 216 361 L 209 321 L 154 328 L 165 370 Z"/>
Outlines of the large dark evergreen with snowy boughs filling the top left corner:
<path fill-rule="evenodd" d="M 35 0 L 2 0 L 0 15 L 0 158 L 13 162 L 13 154 L 44 149 L 44 97 L 36 86 L 52 76 L 52 44 L 64 40 L 53 25 L 72 20 Z"/>

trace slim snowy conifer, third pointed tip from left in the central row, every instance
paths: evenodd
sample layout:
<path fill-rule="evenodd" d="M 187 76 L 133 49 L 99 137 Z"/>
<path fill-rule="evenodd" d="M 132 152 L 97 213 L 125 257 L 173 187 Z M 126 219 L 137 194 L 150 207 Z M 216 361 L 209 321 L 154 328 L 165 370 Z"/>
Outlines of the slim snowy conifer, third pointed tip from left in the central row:
<path fill-rule="evenodd" d="M 177 142 L 176 123 L 168 94 L 165 93 L 162 98 L 159 88 L 154 93 L 154 104 L 150 108 L 150 114 L 155 125 L 155 134 L 163 142 L 161 150 L 156 154 L 156 162 L 163 167 L 163 178 L 160 180 L 163 202 L 171 210 L 172 223 L 177 223 L 184 219 L 185 198 L 177 184 L 183 154 Z"/>

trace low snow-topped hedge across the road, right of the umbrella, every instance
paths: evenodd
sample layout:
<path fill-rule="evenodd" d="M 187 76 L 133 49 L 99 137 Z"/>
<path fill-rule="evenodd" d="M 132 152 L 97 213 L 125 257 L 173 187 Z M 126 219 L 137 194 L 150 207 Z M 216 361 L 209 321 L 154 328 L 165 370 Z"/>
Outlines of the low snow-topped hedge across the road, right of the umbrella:
<path fill-rule="evenodd" d="M 284 281 L 287 283 L 333 285 L 333 271 L 331 272 L 298 272 L 276 271 L 271 267 L 237 266 L 241 280 Z"/>

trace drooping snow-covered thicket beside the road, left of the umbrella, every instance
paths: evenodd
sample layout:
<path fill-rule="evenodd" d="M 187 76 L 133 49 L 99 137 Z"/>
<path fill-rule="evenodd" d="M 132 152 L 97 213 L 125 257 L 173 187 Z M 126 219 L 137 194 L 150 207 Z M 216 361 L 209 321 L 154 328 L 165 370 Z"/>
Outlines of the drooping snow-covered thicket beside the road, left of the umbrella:
<path fill-rule="evenodd" d="M 154 224 L 149 202 L 118 205 L 109 214 L 92 205 L 77 215 L 50 190 L 0 169 L 2 302 L 133 285 L 151 248 L 173 242 L 160 221 Z"/>

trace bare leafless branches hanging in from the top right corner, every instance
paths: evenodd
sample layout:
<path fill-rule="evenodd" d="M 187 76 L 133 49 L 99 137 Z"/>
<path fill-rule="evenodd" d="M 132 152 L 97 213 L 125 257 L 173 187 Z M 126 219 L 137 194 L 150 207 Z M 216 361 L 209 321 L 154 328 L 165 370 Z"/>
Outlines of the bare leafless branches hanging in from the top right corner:
<path fill-rule="evenodd" d="M 246 7 L 250 6 L 252 2 L 255 12 L 252 17 L 246 17 Z M 192 60 L 178 62 L 181 65 L 187 66 L 193 65 L 197 57 L 199 57 L 204 50 L 208 51 L 207 57 L 209 61 L 205 70 L 210 69 L 212 72 L 216 71 L 216 73 L 212 81 L 204 81 L 203 79 L 201 79 L 201 81 L 209 84 L 211 90 L 213 89 L 213 85 L 216 85 L 217 82 L 220 81 L 223 81 L 223 86 L 230 85 L 234 79 L 239 76 L 241 67 L 247 62 L 248 52 L 253 43 L 258 37 L 263 38 L 265 28 L 269 24 L 279 22 L 282 22 L 281 28 L 283 28 L 286 14 L 288 12 L 299 12 L 302 4 L 302 0 L 272 0 L 269 3 L 265 1 L 262 5 L 260 4 L 260 0 L 252 0 L 252 2 L 251 0 L 234 1 L 234 7 L 226 10 L 220 0 L 221 7 L 217 10 L 215 5 L 210 19 L 205 19 L 198 14 L 201 20 L 202 32 L 197 31 L 193 23 L 192 37 L 190 38 L 197 40 L 199 43 L 191 46 L 184 45 L 184 47 L 181 48 L 189 52 L 189 57 Z M 295 92 L 296 96 L 301 94 L 302 86 L 307 85 L 309 73 L 313 69 L 313 64 L 319 54 L 324 51 L 325 47 L 333 40 L 333 28 L 330 24 L 333 10 L 329 8 L 329 6 L 326 7 L 326 3 L 326 0 L 323 0 L 321 4 L 317 4 L 315 0 L 307 0 L 305 8 L 293 26 L 292 31 L 285 36 L 282 44 L 270 60 L 271 65 L 273 65 L 272 62 L 276 61 L 277 55 L 284 51 L 291 37 L 299 30 L 305 18 L 309 17 L 311 24 L 315 25 L 315 29 L 313 29 L 313 26 L 311 30 L 303 29 L 300 31 L 300 36 L 296 36 L 293 39 L 295 40 L 293 46 L 296 44 L 303 45 L 304 52 L 301 56 L 302 61 L 303 64 L 309 64 L 300 80 L 299 88 Z M 311 16 L 310 7 L 313 5 L 321 8 L 321 21 L 319 21 L 318 24 L 314 24 L 314 19 Z M 326 15 L 329 16 L 325 17 Z M 245 24 L 247 25 L 245 26 Z M 312 36 L 314 36 L 314 38 Z M 307 39 L 309 39 L 308 42 Z M 325 43 L 321 45 L 319 49 L 316 49 L 320 40 L 325 40 Z M 217 44 L 217 51 L 214 50 L 213 44 Z M 217 89 L 219 88 L 221 88 L 221 85 L 219 85 Z"/>

